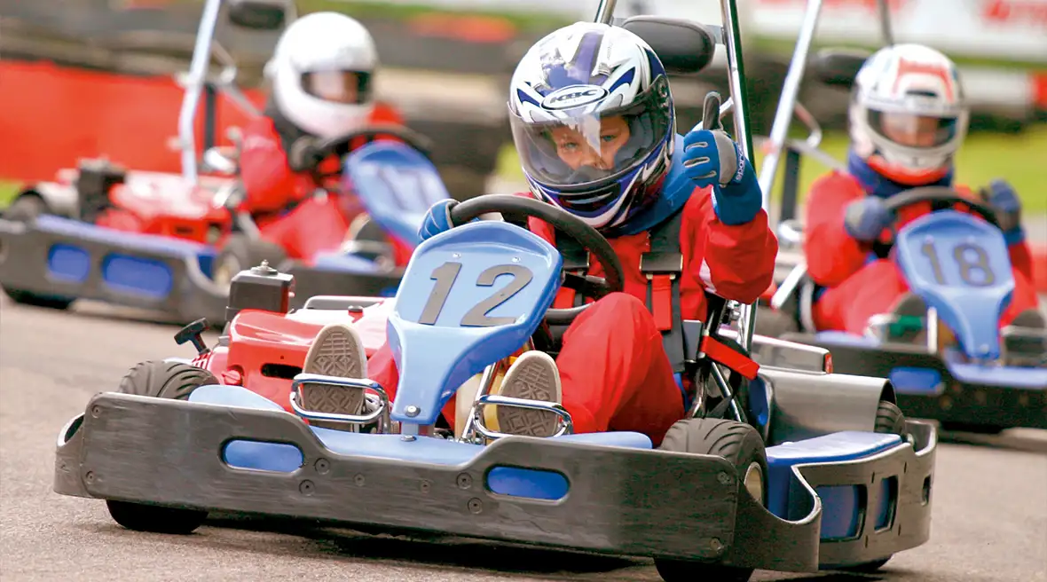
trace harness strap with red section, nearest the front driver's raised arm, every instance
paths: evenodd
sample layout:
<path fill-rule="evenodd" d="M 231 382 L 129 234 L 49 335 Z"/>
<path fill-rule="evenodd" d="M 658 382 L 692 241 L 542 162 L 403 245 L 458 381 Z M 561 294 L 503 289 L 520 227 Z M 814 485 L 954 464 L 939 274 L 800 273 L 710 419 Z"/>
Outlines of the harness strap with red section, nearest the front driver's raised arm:
<path fill-rule="evenodd" d="M 662 344 L 674 373 L 684 371 L 686 361 L 684 316 L 680 284 L 684 273 L 684 254 L 680 231 L 684 222 L 681 208 L 650 233 L 650 251 L 640 256 L 640 272 L 647 277 L 647 309 L 662 332 Z"/>

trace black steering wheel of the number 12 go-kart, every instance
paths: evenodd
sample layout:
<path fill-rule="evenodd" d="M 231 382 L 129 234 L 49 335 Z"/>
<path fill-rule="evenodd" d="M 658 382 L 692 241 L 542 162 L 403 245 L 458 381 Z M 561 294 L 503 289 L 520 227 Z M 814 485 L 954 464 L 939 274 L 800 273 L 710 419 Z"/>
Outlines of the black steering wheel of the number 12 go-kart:
<path fill-rule="evenodd" d="M 610 243 L 596 228 L 585 224 L 580 218 L 533 198 L 491 194 L 456 204 L 451 208 L 451 222 L 466 224 L 488 212 L 534 217 L 543 220 L 553 228 L 571 237 L 582 248 L 592 251 L 597 262 L 603 267 L 606 278 L 589 275 L 584 278 L 569 277 L 563 282 L 564 287 L 576 291 L 584 287 L 586 294 L 592 294 L 596 298 L 625 289 L 622 264 L 618 260 L 618 255 L 615 254 L 615 250 L 610 248 Z M 592 304 L 567 309 L 550 308 L 545 311 L 545 321 L 553 324 L 570 324 L 589 305 Z"/>

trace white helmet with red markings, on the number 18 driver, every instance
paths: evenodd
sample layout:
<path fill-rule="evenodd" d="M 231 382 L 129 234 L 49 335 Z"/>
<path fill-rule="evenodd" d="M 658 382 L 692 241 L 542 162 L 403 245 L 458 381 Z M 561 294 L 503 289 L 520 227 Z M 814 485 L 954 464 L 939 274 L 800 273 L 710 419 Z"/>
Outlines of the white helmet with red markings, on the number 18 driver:
<path fill-rule="evenodd" d="M 854 80 L 854 153 L 889 180 L 920 185 L 943 178 L 967 133 L 970 112 L 956 65 L 937 50 L 889 46 Z"/>

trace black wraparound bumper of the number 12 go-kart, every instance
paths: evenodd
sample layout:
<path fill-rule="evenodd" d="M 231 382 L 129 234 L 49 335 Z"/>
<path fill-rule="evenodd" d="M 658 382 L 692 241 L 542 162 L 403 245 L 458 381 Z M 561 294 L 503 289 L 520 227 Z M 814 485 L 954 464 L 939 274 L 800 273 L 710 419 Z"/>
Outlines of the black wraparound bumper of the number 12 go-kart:
<path fill-rule="evenodd" d="M 105 393 L 63 428 L 54 491 L 815 572 L 820 563 L 869 562 L 927 540 L 934 432 L 915 423 L 913 430 L 917 451 L 904 445 L 866 460 L 795 467 L 782 519 L 739 495 L 732 466 L 718 456 L 525 438 L 500 439 L 455 464 L 346 455 L 287 412 Z M 290 473 L 230 467 L 224 447 L 238 439 L 292 444 L 303 463 Z M 553 501 L 499 495 L 488 482 L 498 467 L 558 472 L 570 489 Z M 899 480 L 892 527 L 874 532 L 866 520 L 853 539 L 821 542 L 815 487 L 863 485 L 887 473 Z"/>

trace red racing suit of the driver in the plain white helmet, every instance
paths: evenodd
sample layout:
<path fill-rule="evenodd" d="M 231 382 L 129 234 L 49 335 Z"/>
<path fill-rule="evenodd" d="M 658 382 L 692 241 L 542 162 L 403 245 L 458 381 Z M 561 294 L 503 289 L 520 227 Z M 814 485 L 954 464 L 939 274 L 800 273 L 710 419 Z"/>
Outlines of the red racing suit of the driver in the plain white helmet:
<path fill-rule="evenodd" d="M 393 108 L 379 104 L 371 122 L 401 125 L 403 120 Z M 359 146 L 362 143 L 361 138 Z M 324 175 L 337 175 L 340 164 L 337 156 L 331 156 L 320 162 L 318 171 Z M 317 183 L 310 172 L 291 170 L 280 132 L 269 116 L 257 117 L 244 128 L 240 177 L 245 194 L 244 208 L 254 218 L 263 236 L 276 239 L 273 242 L 284 246 L 292 259 L 308 258 L 308 249 L 313 246 L 306 240 L 310 237 L 322 240 L 344 237 L 347 225 L 363 211 L 355 196 L 342 194 L 344 200 L 339 216 L 315 209 L 295 216 L 296 205 L 327 184 Z M 397 265 L 406 265 L 410 248 L 394 237 L 389 239 Z"/>

